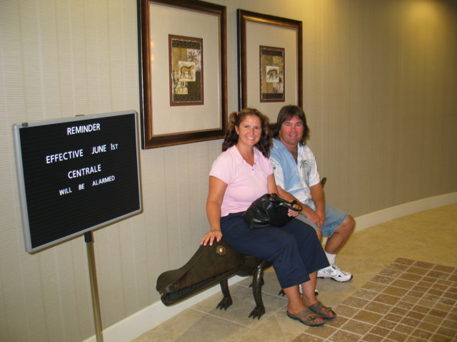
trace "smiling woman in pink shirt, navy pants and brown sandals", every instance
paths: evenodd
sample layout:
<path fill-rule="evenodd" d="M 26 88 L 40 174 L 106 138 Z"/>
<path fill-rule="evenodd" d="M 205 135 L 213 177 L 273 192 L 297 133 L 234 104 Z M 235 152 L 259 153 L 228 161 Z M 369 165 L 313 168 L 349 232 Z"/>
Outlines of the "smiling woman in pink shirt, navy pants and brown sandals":
<path fill-rule="evenodd" d="M 231 113 L 223 152 L 209 174 L 206 213 L 211 230 L 201 244 L 219 242 L 224 235 L 238 252 L 271 261 L 288 299 L 287 315 L 308 326 L 320 326 L 336 314 L 314 293 L 317 270 L 328 266 L 314 229 L 298 219 L 284 227 L 251 229 L 241 217 L 253 200 L 278 193 L 268 159 L 270 147 L 265 115 L 252 108 Z M 297 212 L 289 209 L 288 215 Z"/>

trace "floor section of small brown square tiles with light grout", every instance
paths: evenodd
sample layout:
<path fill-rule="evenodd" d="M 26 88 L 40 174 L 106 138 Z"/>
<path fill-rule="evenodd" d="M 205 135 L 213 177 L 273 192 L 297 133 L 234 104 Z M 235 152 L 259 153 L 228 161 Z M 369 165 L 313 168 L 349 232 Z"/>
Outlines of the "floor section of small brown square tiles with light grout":
<path fill-rule="evenodd" d="M 455 266 L 398 258 L 336 306 L 334 321 L 293 342 L 452 342 L 456 303 Z"/>

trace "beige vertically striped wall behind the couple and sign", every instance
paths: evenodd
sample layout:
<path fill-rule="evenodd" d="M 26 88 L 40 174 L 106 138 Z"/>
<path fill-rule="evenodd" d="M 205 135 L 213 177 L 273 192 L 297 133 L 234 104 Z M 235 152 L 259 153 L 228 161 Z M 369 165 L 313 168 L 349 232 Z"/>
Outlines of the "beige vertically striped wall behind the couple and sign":
<path fill-rule="evenodd" d="M 303 21 L 304 109 L 327 199 L 354 216 L 457 191 L 454 0 L 214 1 Z M 86 245 L 24 251 L 11 125 L 139 110 L 136 0 L 0 0 L 0 341 L 94 335 Z M 94 233 L 104 328 L 159 300 L 208 228 L 221 140 L 141 151 L 144 213 Z"/>

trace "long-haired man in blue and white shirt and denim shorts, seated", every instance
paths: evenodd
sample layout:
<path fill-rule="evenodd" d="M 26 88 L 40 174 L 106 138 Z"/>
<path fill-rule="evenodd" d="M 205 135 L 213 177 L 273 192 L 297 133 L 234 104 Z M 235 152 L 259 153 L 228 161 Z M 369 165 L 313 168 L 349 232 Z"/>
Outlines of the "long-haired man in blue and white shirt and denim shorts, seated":
<path fill-rule="evenodd" d="M 319 239 L 328 237 L 324 251 L 330 266 L 318 270 L 318 278 L 349 281 L 352 274 L 342 271 L 335 259 L 351 235 L 355 221 L 340 209 L 326 204 L 316 159 L 306 146 L 308 131 L 301 108 L 296 105 L 281 108 L 270 152 L 276 185 L 281 197 L 295 199 L 303 207 L 297 218 L 316 229 Z"/>

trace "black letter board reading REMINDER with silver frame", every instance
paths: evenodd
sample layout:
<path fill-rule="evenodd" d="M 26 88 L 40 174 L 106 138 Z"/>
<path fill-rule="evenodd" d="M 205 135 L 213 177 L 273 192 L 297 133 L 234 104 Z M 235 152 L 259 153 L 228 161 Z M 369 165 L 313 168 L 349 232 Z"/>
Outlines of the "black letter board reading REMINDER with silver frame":
<path fill-rule="evenodd" d="M 13 125 L 26 252 L 141 212 L 135 111 Z"/>

